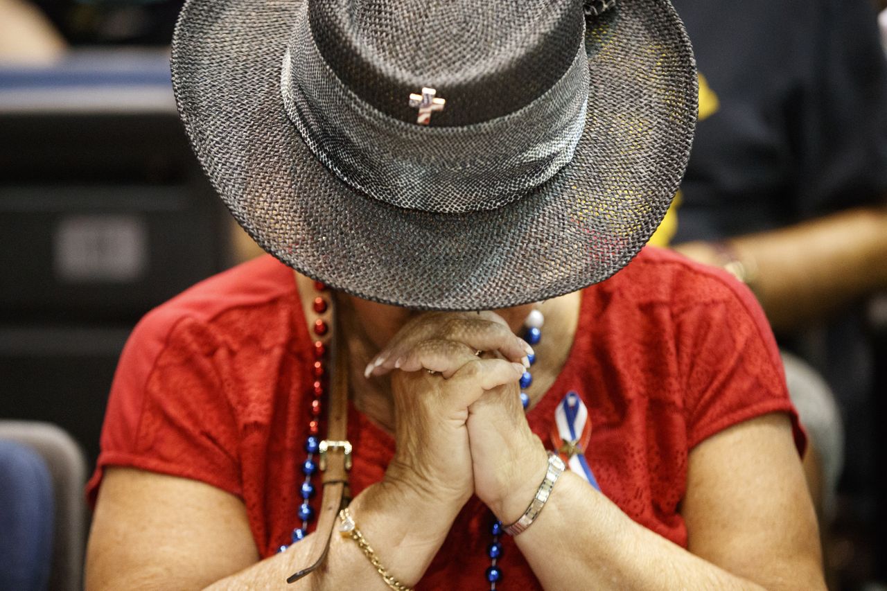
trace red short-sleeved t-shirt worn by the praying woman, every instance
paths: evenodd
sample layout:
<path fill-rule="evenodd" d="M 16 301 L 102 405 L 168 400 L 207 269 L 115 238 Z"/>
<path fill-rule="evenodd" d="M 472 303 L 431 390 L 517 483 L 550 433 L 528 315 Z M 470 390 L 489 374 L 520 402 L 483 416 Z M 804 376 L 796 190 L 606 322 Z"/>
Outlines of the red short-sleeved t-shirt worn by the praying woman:
<path fill-rule="evenodd" d="M 194 478 L 244 500 L 255 543 L 271 556 L 301 524 L 313 361 L 293 272 L 271 256 L 164 303 L 122 353 L 90 501 L 109 465 Z M 569 390 L 588 406 L 586 457 L 602 492 L 685 547 L 678 506 L 694 445 L 735 423 L 785 412 L 804 446 L 754 297 L 726 273 L 668 251 L 645 248 L 583 291 L 569 358 L 528 414 L 543 441 Z M 357 494 L 381 479 L 394 444 L 353 407 L 348 430 Z M 419 587 L 489 588 L 491 520 L 489 509 L 470 500 Z M 513 540 L 502 541 L 505 588 L 540 588 Z"/>

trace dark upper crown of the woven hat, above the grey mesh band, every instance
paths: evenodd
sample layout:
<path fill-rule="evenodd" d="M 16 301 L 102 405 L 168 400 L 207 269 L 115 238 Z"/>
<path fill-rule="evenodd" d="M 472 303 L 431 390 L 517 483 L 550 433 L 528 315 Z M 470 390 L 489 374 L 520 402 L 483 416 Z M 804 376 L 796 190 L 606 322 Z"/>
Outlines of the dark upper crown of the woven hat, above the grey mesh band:
<path fill-rule="evenodd" d="M 584 43 L 578 0 L 310 0 L 311 35 L 350 91 L 416 122 L 411 93 L 446 100 L 436 127 L 514 113 L 548 91 Z"/>

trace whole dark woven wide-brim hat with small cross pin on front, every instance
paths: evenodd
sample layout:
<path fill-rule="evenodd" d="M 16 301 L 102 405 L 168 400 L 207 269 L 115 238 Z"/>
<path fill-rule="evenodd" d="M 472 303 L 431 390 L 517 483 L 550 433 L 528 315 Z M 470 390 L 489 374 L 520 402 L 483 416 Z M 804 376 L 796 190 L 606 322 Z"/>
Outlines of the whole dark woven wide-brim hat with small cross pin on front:
<path fill-rule="evenodd" d="M 418 309 L 607 279 L 662 220 L 696 118 L 667 0 L 189 0 L 172 73 L 260 246 Z"/>

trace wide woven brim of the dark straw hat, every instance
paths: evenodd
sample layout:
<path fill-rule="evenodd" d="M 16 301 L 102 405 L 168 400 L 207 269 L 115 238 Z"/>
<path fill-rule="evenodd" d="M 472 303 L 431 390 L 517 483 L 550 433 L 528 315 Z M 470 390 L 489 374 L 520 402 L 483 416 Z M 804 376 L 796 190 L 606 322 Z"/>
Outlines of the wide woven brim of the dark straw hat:
<path fill-rule="evenodd" d="M 506 207 L 400 209 L 341 182 L 287 118 L 280 68 L 298 1 L 189 0 L 172 72 L 185 129 L 216 191 L 262 248 L 332 288 L 426 310 L 561 296 L 631 261 L 687 166 L 697 89 L 665 0 L 589 21 L 591 86 L 572 162 Z"/>

